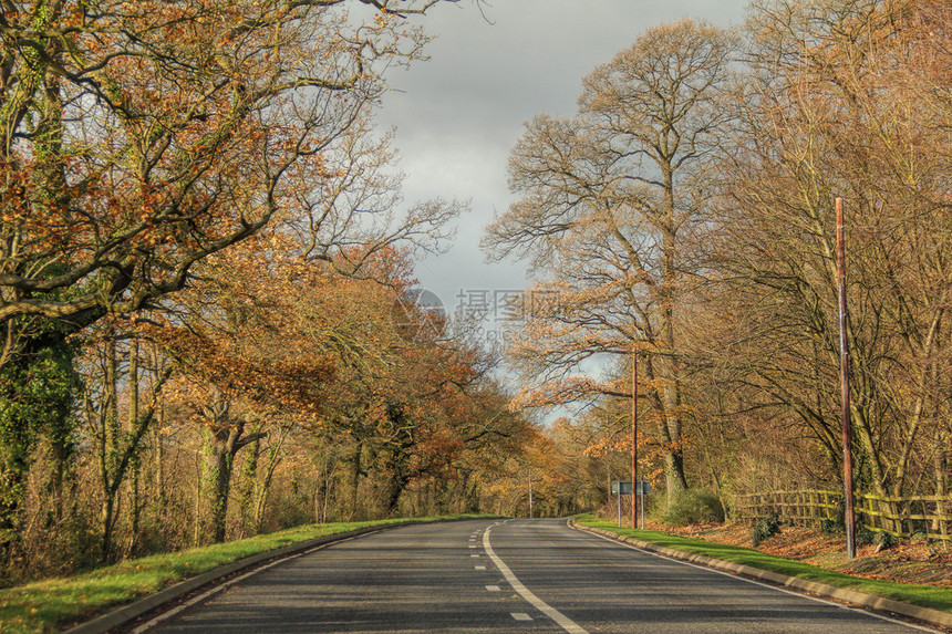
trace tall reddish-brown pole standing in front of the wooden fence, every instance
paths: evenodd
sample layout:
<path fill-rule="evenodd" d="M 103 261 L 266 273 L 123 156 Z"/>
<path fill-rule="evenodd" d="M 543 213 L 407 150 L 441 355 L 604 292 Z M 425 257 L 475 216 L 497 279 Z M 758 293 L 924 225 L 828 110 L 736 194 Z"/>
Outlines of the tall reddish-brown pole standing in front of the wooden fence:
<path fill-rule="evenodd" d="M 836 199 L 836 268 L 839 285 L 839 376 L 842 409 L 842 484 L 846 553 L 856 557 L 856 511 L 852 506 L 852 426 L 849 407 L 849 349 L 847 346 L 846 312 L 846 245 L 844 240 L 842 198 Z"/>

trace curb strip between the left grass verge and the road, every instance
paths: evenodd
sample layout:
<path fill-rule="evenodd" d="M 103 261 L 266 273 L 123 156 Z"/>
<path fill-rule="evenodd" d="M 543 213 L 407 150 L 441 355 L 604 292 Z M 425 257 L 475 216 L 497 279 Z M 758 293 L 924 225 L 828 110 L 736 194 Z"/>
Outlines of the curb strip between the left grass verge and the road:
<path fill-rule="evenodd" d="M 259 552 L 258 554 L 252 554 L 251 557 L 246 557 L 245 559 L 239 559 L 238 561 L 234 561 L 214 570 L 209 570 L 208 572 L 204 572 L 197 576 L 193 576 L 192 579 L 186 579 L 185 581 L 180 581 L 175 585 L 169 585 L 165 590 L 161 590 L 155 594 L 149 594 L 143 599 L 139 599 L 134 603 L 128 603 L 126 605 L 123 605 L 122 607 L 91 619 L 90 621 L 85 621 L 83 623 L 74 625 L 71 628 L 65 630 L 64 634 L 105 634 L 116 627 L 126 625 L 127 623 L 134 621 L 135 619 L 138 619 L 143 614 L 152 612 L 153 610 L 159 607 L 165 603 L 175 601 L 182 595 L 188 594 L 189 592 L 197 590 L 203 585 L 208 585 L 210 583 L 214 583 L 215 581 L 218 581 L 221 578 L 228 576 L 235 572 L 247 568 L 252 568 L 260 563 L 290 558 L 303 550 L 312 549 L 319 545 L 328 545 L 338 541 L 343 541 L 370 532 L 376 532 L 386 529 L 394 529 L 414 524 L 463 521 L 464 519 L 469 518 L 437 519 L 422 522 L 405 521 L 382 526 L 364 527 L 346 532 L 329 534 L 310 539 L 307 541 L 301 541 L 298 543 L 292 543 L 283 548 L 269 550 L 266 552 Z"/>

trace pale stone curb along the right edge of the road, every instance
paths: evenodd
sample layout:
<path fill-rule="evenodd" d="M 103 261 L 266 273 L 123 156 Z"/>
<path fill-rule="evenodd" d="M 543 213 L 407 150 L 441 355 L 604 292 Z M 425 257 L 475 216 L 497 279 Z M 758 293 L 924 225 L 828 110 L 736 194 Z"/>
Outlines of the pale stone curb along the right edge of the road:
<path fill-rule="evenodd" d="M 827 599 L 837 599 L 839 601 L 845 601 L 847 603 L 858 605 L 860 607 L 883 610 L 887 612 L 892 612 L 893 614 L 910 616 L 912 619 L 918 619 L 919 621 L 923 621 L 932 625 L 952 627 L 952 613 L 943 612 L 941 610 L 932 610 L 931 607 L 922 607 L 920 605 L 913 605 L 912 603 L 906 603 L 904 601 L 894 601 L 892 599 L 886 599 L 884 596 L 878 596 L 876 594 L 868 594 L 866 592 L 859 592 L 856 590 L 847 590 L 846 588 L 838 588 L 836 585 L 828 585 L 826 583 L 819 583 L 816 581 L 807 581 L 806 579 L 800 579 L 798 576 L 787 576 L 786 574 L 780 574 L 778 572 L 760 570 L 758 568 L 752 568 L 749 565 L 743 565 L 739 563 L 731 563 L 729 561 L 713 559 L 703 554 L 692 554 L 689 552 L 674 550 L 672 548 L 641 541 L 634 538 L 620 536 L 607 530 L 583 527 L 576 522 L 573 519 L 569 520 L 569 526 L 576 530 L 583 530 L 587 532 L 607 537 L 614 541 L 630 543 L 642 550 L 646 550 L 656 554 L 662 554 L 671 559 L 687 561 L 691 563 L 703 565 L 705 568 L 712 568 L 714 570 L 720 570 L 723 572 L 731 572 L 734 574 L 753 578 L 759 581 L 766 581 L 768 583 L 783 585 L 793 590 L 818 594 Z"/>

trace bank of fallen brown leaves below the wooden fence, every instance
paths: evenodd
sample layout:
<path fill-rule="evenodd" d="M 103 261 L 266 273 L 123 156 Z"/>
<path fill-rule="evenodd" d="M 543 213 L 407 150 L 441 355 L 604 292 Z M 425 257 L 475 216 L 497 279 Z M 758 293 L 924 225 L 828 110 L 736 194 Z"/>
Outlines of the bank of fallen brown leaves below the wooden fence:
<path fill-rule="evenodd" d="M 745 524 L 645 528 L 754 548 L 752 528 Z M 849 560 L 846 557 L 846 541 L 842 536 L 830 537 L 803 527 L 785 526 L 779 534 L 762 542 L 756 550 L 853 576 L 952 586 L 952 552 L 944 550 L 941 543 L 900 543 L 879 553 L 873 545 L 858 545 L 856 559 Z"/>

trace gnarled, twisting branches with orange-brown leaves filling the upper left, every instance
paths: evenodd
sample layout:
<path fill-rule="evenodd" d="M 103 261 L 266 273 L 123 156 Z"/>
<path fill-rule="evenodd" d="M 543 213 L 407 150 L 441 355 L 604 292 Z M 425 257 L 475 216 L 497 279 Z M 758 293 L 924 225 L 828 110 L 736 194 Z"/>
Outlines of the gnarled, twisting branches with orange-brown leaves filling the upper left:
<path fill-rule="evenodd" d="M 0 364 L 62 337 L 43 320 L 75 330 L 183 288 L 281 214 L 323 228 L 346 188 L 328 155 L 365 132 L 379 73 L 420 55 L 405 15 L 435 3 L 11 3 Z"/>

